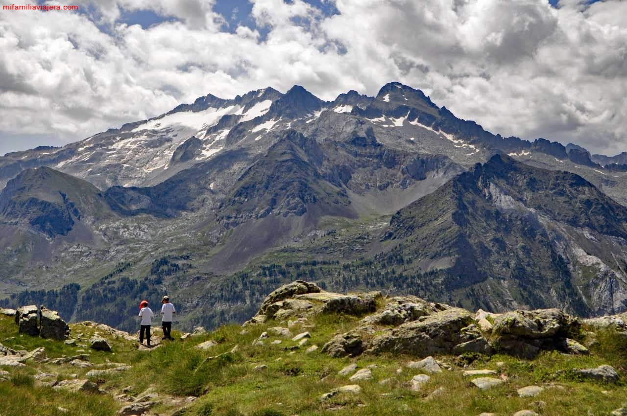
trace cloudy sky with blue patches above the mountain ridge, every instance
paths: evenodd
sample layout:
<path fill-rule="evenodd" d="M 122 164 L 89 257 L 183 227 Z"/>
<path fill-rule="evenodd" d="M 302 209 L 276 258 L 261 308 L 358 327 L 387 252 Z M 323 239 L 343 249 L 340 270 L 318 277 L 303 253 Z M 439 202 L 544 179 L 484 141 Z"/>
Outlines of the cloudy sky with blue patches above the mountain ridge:
<path fill-rule="evenodd" d="M 0 0 L 0 4 L 36 0 Z M 0 154 L 213 93 L 420 88 L 494 133 L 627 150 L 627 1 L 68 0 L 0 10 Z"/>

